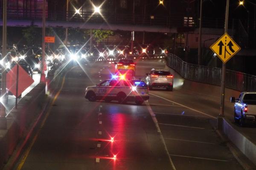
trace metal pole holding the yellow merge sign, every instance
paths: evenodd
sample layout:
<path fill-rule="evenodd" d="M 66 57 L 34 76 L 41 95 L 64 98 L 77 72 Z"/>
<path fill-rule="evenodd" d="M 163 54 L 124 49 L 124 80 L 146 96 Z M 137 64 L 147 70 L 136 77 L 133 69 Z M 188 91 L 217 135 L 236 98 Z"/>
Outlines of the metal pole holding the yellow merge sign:
<path fill-rule="evenodd" d="M 227 0 L 226 6 L 226 17 L 225 17 L 225 32 L 227 33 L 228 27 L 228 8 L 229 8 L 229 0 Z M 226 77 L 226 64 L 222 63 L 222 70 L 221 70 L 221 117 L 224 117 L 224 105 L 225 105 L 225 77 Z"/>

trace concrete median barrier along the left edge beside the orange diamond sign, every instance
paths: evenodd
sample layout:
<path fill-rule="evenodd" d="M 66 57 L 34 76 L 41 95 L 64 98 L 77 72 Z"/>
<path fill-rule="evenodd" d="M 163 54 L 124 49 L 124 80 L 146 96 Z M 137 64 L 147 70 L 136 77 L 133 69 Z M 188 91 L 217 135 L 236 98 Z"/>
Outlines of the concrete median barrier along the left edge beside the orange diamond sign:
<path fill-rule="evenodd" d="M 26 136 L 33 120 L 46 104 L 45 84 L 35 86 L 7 116 L 7 130 L 0 130 L 0 169 L 12 155 L 17 143 Z"/>

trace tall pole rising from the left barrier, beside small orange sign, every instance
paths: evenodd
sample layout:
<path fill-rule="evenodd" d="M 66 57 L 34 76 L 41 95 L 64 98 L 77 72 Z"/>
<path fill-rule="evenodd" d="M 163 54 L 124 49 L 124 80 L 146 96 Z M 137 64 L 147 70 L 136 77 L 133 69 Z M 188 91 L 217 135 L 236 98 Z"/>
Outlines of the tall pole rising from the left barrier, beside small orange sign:
<path fill-rule="evenodd" d="M 45 0 L 43 4 L 43 28 L 42 28 L 42 64 L 41 64 L 41 82 L 45 82 L 45 74 L 44 74 L 44 68 L 45 68 Z"/>

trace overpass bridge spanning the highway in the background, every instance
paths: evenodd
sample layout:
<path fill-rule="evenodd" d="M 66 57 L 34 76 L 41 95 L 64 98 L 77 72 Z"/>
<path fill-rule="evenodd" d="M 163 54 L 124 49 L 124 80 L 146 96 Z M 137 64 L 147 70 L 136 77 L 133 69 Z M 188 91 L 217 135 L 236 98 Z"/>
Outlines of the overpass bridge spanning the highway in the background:
<path fill-rule="evenodd" d="M 0 18 L 2 11 L 0 11 Z M 194 31 L 197 19 L 177 15 L 47 11 L 46 26 L 176 33 Z M 2 25 L 3 22 L 0 22 Z M 7 9 L 7 26 L 42 26 L 42 10 Z M 223 28 L 222 20 L 204 20 L 204 27 Z"/>

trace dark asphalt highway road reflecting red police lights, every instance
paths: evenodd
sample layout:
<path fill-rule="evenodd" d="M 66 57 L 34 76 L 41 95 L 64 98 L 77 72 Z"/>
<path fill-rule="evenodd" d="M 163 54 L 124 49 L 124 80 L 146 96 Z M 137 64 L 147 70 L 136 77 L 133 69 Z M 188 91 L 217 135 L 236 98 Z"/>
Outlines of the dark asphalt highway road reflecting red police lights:
<path fill-rule="evenodd" d="M 165 67 L 162 60 L 137 62 L 136 77 Z M 137 106 L 84 98 L 86 86 L 110 78 L 113 64 L 66 70 L 13 169 L 242 170 L 212 127 L 218 102 L 180 90 L 177 75 L 173 92 L 152 90 Z"/>

